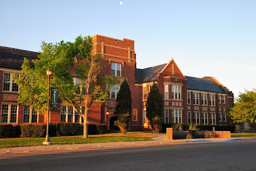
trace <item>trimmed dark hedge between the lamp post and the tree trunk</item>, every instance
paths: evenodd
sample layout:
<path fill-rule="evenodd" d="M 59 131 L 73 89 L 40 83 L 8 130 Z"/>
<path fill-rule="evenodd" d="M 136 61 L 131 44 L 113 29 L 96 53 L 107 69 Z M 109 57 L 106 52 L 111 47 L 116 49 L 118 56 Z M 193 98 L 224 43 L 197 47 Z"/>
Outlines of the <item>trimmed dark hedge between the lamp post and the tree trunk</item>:
<path fill-rule="evenodd" d="M 79 131 L 79 123 L 54 123 L 57 136 L 71 136 Z"/>

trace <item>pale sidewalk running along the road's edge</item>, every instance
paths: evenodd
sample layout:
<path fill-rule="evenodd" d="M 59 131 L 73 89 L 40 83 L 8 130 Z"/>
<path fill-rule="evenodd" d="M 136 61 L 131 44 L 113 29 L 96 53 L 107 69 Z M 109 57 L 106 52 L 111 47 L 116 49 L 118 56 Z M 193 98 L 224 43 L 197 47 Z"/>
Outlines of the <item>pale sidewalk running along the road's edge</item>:
<path fill-rule="evenodd" d="M 71 145 L 45 145 L 45 146 L 31 146 L 31 147 L 13 147 L 13 148 L 0 148 L 0 154 L 4 153 L 29 153 L 29 152 L 50 152 L 55 150 L 96 150 L 100 148 L 121 148 L 121 147 L 142 147 L 152 145 L 172 145 L 187 143 L 193 141 L 195 143 L 201 140 L 207 140 L 208 142 L 226 142 L 228 140 L 236 140 L 238 138 L 207 138 L 207 139 L 182 139 L 182 140 L 166 140 L 166 134 L 154 134 L 156 137 L 152 138 L 152 141 L 138 141 L 138 142 L 110 142 L 110 143 L 84 143 L 84 144 L 71 144 Z M 243 140 L 255 140 L 256 137 L 243 137 Z"/>

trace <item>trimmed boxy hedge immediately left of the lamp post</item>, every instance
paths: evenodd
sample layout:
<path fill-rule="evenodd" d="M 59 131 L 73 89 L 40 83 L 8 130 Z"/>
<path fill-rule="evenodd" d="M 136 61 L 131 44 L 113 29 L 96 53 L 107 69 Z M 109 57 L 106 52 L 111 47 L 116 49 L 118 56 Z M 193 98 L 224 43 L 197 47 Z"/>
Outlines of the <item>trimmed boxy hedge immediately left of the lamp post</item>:
<path fill-rule="evenodd" d="M 24 124 L 21 126 L 21 137 L 45 137 L 46 125 L 42 124 Z"/>

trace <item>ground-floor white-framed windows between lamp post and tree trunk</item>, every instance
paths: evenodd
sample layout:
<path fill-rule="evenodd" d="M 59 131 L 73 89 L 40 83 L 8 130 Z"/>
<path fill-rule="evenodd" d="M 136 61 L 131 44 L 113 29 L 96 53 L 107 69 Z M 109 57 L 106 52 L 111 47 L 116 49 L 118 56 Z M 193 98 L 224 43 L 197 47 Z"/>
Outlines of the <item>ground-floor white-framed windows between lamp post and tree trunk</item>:
<path fill-rule="evenodd" d="M 61 114 L 61 111 L 63 110 L 63 108 L 65 109 L 65 114 Z M 72 109 L 71 113 L 69 113 L 69 111 L 70 111 L 69 109 Z M 84 110 L 85 110 L 85 107 L 82 107 L 82 109 L 80 109 L 80 112 L 84 113 Z M 63 122 L 63 121 L 61 121 L 61 115 L 65 115 L 65 122 L 68 122 L 68 115 L 72 115 L 72 117 L 71 117 L 72 123 L 83 123 L 82 116 L 79 115 L 72 106 L 61 106 L 60 107 L 60 122 Z M 75 117 L 77 115 L 79 115 L 79 122 L 75 122 Z"/>

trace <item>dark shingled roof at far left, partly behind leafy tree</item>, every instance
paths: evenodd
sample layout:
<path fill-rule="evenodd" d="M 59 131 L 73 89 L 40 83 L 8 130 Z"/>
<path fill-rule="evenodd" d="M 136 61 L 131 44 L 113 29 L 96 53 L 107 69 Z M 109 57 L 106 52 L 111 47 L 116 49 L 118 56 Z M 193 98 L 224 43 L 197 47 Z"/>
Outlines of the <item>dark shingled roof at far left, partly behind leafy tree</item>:
<path fill-rule="evenodd" d="M 0 46 L 0 68 L 21 70 L 24 58 L 35 60 L 38 54 L 40 53 Z"/>

